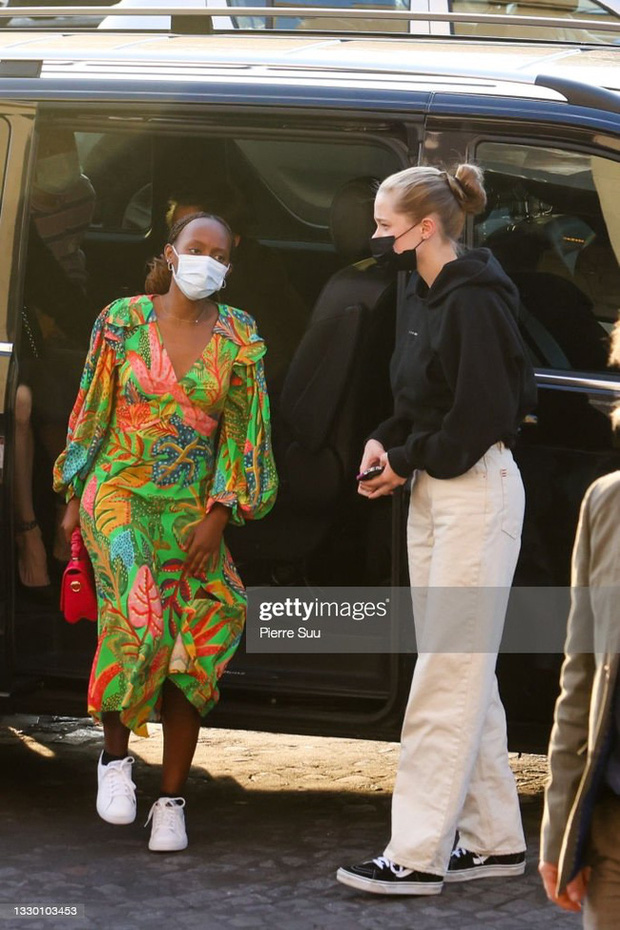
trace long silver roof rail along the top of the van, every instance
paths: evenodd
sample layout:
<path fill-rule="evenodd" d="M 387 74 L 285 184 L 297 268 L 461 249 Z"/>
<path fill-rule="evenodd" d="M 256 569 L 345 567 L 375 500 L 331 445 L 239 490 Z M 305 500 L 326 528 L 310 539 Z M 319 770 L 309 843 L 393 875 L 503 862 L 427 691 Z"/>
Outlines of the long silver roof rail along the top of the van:
<path fill-rule="evenodd" d="M 0 20 L 1 19 L 13 19 L 19 17 L 19 19 L 50 19 L 54 18 L 105 18 L 107 16 L 131 16 L 131 17 L 142 17 L 142 16 L 157 16 L 165 18 L 167 16 L 173 16 L 175 19 L 190 17 L 194 21 L 198 19 L 205 19 L 207 23 L 212 27 L 213 17 L 214 16 L 228 16 L 228 17 L 243 17 L 243 18 L 255 18 L 255 19 L 265 19 L 266 27 L 273 28 L 269 26 L 269 20 L 273 19 L 335 19 L 335 20 L 368 20 L 368 19 L 377 19 L 377 20 L 405 20 L 407 22 L 445 22 L 445 23 L 471 23 L 471 24 L 487 24 L 487 25 L 499 25 L 499 26 L 526 26 L 526 27 L 539 27 L 539 28 L 561 28 L 566 31 L 570 30 L 584 30 L 594 29 L 596 32 L 608 32 L 610 34 L 619 34 L 620 33 L 620 17 L 615 21 L 603 21 L 598 22 L 596 19 L 566 19 L 562 17 L 554 16 L 521 16 L 521 15 L 503 15 L 497 13 L 436 13 L 432 10 L 428 11 L 411 11 L 411 10 L 379 10 L 379 9 L 343 9 L 342 7 L 274 7 L 274 6 L 251 6 L 251 7 L 233 7 L 233 6 L 221 6 L 221 7 L 173 7 L 172 9 L 167 9 L 165 7 L 115 7 L 115 6 L 20 6 L 20 7 L 2 7 L 0 8 Z M 205 25 L 207 25 L 205 23 Z M 20 27 L 22 28 L 22 27 Z M 45 24 L 42 24 L 41 29 L 49 29 Z M 208 27 L 207 27 L 208 28 Z M 82 30 L 81 30 L 82 31 Z M 153 31 L 153 30 L 149 30 Z M 240 29 L 240 32 L 245 31 L 245 29 Z M 261 30 L 262 31 L 262 30 Z M 343 30 L 337 30 L 343 31 Z M 380 31 L 380 30 L 378 30 Z M 394 33 L 389 33 L 389 35 L 394 36 Z M 405 33 L 398 33 L 398 36 L 402 39 L 406 35 Z M 443 36 L 442 38 L 446 38 Z M 464 38 L 459 36 L 459 38 Z M 477 39 L 484 39 L 484 36 L 476 36 Z M 518 36 L 515 36 L 518 38 Z M 545 39 L 545 41 L 553 41 Z M 559 40 L 563 41 L 563 40 Z M 588 44 L 588 43 L 584 43 Z M 598 43 L 597 43 L 598 44 Z"/>

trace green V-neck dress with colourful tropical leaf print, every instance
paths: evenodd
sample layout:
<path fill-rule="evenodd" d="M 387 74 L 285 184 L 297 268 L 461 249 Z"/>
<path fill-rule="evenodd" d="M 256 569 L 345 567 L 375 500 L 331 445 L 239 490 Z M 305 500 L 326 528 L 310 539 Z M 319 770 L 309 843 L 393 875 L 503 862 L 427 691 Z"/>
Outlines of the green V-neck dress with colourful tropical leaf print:
<path fill-rule="evenodd" d="M 81 498 L 97 584 L 88 712 L 120 711 L 144 734 L 169 677 L 204 715 L 245 621 L 245 591 L 222 542 L 215 570 L 183 572 L 191 531 L 215 502 L 230 521 L 273 506 L 265 344 L 252 318 L 219 306 L 213 336 L 177 379 L 149 297 L 97 319 L 54 489 Z"/>

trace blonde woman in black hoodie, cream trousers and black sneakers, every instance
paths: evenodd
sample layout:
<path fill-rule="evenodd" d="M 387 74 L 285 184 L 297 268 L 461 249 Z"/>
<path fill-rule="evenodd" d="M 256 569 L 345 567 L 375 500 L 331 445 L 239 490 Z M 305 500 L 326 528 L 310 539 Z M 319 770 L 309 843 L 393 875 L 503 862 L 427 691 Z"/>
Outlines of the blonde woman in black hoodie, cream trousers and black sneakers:
<path fill-rule="evenodd" d="M 518 293 L 488 249 L 462 254 L 482 173 L 388 177 L 374 251 L 414 270 L 392 357 L 394 416 L 375 430 L 359 484 L 370 500 L 413 476 L 407 527 L 418 645 L 383 855 L 338 870 L 378 894 L 520 875 L 525 838 L 495 677 L 525 496 L 511 448 L 536 402 Z M 459 842 L 453 850 L 455 833 Z"/>

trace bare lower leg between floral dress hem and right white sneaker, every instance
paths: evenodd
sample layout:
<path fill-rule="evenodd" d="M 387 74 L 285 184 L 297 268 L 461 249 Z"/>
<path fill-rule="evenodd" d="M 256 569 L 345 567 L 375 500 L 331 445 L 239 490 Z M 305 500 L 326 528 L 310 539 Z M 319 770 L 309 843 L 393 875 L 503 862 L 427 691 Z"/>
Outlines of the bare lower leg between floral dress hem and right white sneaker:
<path fill-rule="evenodd" d="M 196 751 L 200 715 L 170 679 L 164 682 L 161 718 L 164 731 L 161 790 L 180 795 Z"/>

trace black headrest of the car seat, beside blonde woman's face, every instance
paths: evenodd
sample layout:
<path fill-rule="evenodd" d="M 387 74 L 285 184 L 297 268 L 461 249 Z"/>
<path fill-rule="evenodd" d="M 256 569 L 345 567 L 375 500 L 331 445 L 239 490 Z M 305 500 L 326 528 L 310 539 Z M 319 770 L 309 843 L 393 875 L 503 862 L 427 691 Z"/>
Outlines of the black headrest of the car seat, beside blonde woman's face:
<path fill-rule="evenodd" d="M 334 194 L 329 216 L 332 241 L 347 262 L 370 256 L 368 240 L 375 231 L 376 178 L 353 178 Z"/>

